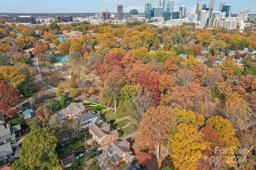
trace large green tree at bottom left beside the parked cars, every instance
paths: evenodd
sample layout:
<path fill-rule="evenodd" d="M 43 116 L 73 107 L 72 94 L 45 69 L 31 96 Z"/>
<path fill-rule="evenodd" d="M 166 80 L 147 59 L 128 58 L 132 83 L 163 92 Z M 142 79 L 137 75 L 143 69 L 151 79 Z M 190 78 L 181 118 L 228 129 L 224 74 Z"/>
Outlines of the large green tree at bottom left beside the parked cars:
<path fill-rule="evenodd" d="M 37 129 L 25 136 L 11 169 L 61 169 L 56 154 L 57 137 L 49 128 Z"/>

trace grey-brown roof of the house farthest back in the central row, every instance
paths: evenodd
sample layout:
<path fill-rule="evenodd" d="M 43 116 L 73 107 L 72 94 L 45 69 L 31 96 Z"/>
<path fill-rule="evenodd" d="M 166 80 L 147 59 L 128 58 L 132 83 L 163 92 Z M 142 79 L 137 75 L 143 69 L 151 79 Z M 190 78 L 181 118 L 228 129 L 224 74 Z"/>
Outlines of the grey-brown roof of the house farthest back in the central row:
<path fill-rule="evenodd" d="M 70 103 L 67 108 L 63 108 L 60 111 L 56 112 L 57 116 L 64 116 L 64 115 L 73 115 L 75 116 L 79 111 L 84 109 L 84 105 L 82 102 L 79 103 Z"/>

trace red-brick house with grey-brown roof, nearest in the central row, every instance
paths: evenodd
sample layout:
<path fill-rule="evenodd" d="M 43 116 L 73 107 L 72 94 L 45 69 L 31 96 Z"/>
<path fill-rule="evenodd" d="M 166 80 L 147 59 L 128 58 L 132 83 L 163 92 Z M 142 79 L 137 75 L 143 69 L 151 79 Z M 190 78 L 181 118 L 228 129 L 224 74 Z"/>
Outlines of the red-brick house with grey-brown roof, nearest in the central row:
<path fill-rule="evenodd" d="M 106 153 L 106 158 L 114 166 L 117 166 L 122 162 L 129 164 L 134 159 L 134 155 L 130 150 L 130 143 L 127 142 L 127 140 L 111 142 L 106 149 Z"/>

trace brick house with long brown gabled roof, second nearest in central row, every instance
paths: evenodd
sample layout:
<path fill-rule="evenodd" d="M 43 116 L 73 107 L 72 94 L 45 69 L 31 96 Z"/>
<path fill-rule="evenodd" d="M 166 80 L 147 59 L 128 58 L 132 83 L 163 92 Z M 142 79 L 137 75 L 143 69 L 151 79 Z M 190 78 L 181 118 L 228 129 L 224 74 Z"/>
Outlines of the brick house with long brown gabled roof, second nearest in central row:
<path fill-rule="evenodd" d="M 101 146 L 108 145 L 118 139 L 117 130 L 113 130 L 108 123 L 93 124 L 89 127 L 89 132 L 93 139 Z"/>

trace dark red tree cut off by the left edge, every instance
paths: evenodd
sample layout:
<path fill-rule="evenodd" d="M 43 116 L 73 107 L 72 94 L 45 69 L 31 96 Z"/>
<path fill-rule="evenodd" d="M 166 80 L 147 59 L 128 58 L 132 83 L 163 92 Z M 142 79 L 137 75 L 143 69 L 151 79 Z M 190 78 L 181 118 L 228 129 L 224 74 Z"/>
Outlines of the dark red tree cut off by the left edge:
<path fill-rule="evenodd" d="M 5 81 L 0 81 L 0 112 L 11 116 L 12 108 L 20 103 L 20 95 L 17 90 L 10 87 Z"/>

